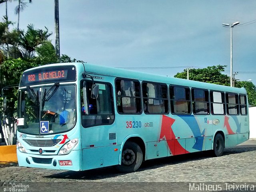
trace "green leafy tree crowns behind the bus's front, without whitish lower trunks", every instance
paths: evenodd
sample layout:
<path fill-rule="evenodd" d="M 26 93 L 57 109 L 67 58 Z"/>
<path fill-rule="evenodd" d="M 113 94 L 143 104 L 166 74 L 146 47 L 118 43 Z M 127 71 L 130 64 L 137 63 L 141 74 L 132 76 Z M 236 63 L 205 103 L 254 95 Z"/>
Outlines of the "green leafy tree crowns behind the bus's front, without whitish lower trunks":
<path fill-rule="evenodd" d="M 59 58 L 54 46 L 48 40 L 52 33 L 48 32 L 46 27 L 42 30 L 30 24 L 26 30 L 13 29 L 9 32 L 10 24 L 13 23 L 6 16 L 3 22 L 0 22 L 0 89 L 18 84 L 22 73 L 32 67 L 61 62 L 82 62 L 71 59 L 68 55 L 62 55 Z M 8 101 L 8 111 L 5 112 L 5 116 L 14 116 L 17 95 L 16 88 L 4 90 L 4 96 Z M 0 98 L 0 105 L 2 100 L 3 98 Z M 0 106 L 0 113 L 2 113 L 2 106 Z"/>

